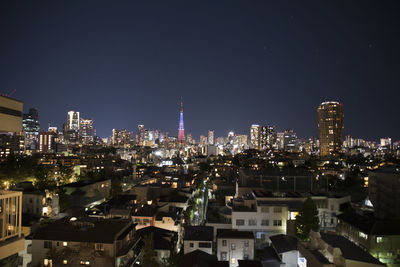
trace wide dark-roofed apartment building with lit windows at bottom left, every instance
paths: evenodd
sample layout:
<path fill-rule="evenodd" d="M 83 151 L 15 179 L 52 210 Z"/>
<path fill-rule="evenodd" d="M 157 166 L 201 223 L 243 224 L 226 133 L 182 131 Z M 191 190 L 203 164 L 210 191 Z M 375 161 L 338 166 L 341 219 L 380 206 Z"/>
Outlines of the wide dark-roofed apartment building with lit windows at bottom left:
<path fill-rule="evenodd" d="M 137 258 L 134 233 L 130 220 L 65 217 L 32 235 L 32 266 L 126 266 Z"/>

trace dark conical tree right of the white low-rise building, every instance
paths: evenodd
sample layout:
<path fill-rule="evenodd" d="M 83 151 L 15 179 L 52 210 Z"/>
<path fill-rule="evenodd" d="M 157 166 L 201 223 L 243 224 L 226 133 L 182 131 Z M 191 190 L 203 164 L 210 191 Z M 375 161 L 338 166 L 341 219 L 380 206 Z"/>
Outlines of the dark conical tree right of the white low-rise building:
<path fill-rule="evenodd" d="M 295 226 L 296 236 L 303 241 L 310 239 L 311 230 L 319 230 L 318 210 L 311 197 L 308 197 L 301 205 Z"/>

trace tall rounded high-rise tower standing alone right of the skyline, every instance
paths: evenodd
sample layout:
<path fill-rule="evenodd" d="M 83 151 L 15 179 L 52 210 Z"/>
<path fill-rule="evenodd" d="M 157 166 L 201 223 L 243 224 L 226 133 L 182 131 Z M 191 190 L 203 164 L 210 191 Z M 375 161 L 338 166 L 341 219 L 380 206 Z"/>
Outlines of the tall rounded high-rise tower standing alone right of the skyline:
<path fill-rule="evenodd" d="M 317 114 L 320 155 L 337 155 L 343 144 L 343 105 L 334 101 L 323 102 L 319 105 Z"/>

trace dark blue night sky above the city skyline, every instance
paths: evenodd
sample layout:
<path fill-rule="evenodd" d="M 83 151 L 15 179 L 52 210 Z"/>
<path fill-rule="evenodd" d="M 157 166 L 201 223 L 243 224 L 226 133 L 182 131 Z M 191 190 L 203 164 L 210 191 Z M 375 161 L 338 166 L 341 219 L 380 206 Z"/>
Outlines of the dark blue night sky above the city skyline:
<path fill-rule="evenodd" d="M 97 134 L 137 124 L 317 136 L 344 105 L 345 134 L 400 140 L 400 1 L 0 1 L 0 92 L 41 127 L 67 111 Z"/>

